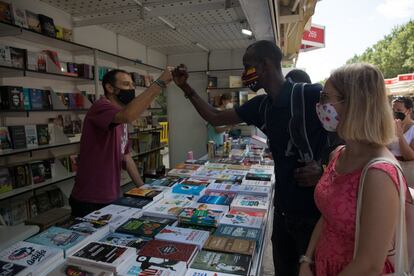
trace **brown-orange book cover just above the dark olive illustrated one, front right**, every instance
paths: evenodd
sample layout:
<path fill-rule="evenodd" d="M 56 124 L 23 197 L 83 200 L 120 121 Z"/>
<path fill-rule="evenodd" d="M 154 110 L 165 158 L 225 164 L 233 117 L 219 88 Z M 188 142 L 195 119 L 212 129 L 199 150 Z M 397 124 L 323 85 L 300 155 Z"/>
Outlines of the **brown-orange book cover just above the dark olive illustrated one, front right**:
<path fill-rule="evenodd" d="M 256 242 L 252 240 L 211 236 L 204 244 L 204 249 L 253 256 L 256 249 Z"/>

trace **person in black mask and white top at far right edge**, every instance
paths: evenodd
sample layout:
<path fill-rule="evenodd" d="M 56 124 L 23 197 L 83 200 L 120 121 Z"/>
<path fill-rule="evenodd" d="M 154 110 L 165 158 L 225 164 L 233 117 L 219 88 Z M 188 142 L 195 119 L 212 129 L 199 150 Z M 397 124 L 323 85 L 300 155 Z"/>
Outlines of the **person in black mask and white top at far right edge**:
<path fill-rule="evenodd" d="M 414 120 L 413 101 L 409 97 L 397 97 L 392 101 L 397 141 L 388 148 L 401 161 L 414 160 Z"/>

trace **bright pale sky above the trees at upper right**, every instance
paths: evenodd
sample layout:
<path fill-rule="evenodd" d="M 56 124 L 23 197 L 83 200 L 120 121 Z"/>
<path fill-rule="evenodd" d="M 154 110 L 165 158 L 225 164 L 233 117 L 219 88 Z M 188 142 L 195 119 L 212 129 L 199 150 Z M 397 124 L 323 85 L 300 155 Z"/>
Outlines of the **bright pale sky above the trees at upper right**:
<path fill-rule="evenodd" d="M 325 48 L 300 53 L 296 66 L 313 82 L 324 80 L 410 18 L 414 19 L 414 0 L 319 1 L 312 23 L 325 26 Z"/>

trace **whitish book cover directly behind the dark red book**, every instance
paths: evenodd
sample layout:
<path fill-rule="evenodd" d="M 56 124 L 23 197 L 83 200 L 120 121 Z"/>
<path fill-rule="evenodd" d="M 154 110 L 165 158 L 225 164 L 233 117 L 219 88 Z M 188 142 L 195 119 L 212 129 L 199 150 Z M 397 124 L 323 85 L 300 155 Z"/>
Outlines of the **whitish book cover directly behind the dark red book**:
<path fill-rule="evenodd" d="M 207 241 L 210 232 L 202 230 L 193 230 L 175 226 L 166 226 L 157 235 L 156 240 L 175 241 L 185 244 L 193 244 L 201 249 Z"/>

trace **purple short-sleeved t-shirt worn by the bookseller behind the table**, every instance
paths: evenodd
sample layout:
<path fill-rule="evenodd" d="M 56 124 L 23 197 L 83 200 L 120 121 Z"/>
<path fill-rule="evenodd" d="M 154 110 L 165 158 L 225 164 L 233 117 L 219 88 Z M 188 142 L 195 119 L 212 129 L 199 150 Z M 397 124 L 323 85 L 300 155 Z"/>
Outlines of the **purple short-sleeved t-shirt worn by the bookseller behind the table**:
<path fill-rule="evenodd" d="M 86 114 L 72 190 L 79 201 L 110 203 L 119 197 L 124 155 L 129 152 L 127 125 L 112 123 L 120 110 L 101 98 Z"/>

